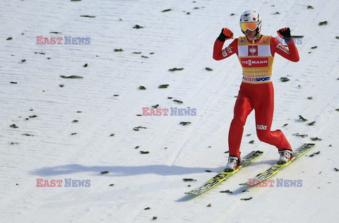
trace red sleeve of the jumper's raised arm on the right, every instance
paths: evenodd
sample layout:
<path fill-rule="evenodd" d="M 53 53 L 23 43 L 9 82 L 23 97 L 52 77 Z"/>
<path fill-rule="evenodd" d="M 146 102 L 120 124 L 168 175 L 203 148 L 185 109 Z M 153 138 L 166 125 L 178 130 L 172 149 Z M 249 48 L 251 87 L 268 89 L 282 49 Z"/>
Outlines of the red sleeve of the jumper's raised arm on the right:
<path fill-rule="evenodd" d="M 270 52 L 272 56 L 274 56 L 274 53 L 278 53 L 280 56 L 283 56 L 285 59 L 288 59 L 292 62 L 299 61 L 299 52 L 293 39 L 287 41 L 287 47 L 281 44 L 277 38 L 271 37 Z"/>

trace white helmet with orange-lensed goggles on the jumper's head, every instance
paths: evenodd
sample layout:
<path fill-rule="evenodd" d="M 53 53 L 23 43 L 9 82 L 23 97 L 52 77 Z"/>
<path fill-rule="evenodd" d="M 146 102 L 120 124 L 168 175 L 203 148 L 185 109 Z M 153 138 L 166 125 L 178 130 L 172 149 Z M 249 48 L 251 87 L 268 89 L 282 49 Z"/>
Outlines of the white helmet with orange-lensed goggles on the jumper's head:
<path fill-rule="evenodd" d="M 244 11 L 242 16 L 240 16 L 240 28 L 242 29 L 242 32 L 245 32 L 248 29 L 251 31 L 256 30 L 256 33 L 260 32 L 261 17 L 259 16 L 259 13 L 253 10 Z"/>

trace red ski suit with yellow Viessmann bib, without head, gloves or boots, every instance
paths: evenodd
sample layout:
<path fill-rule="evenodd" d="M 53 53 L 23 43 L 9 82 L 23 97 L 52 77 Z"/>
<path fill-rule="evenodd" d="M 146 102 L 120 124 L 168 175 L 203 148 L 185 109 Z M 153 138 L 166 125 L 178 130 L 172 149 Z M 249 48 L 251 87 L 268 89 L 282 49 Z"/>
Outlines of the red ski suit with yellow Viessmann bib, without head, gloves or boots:
<path fill-rule="evenodd" d="M 232 54 L 237 54 L 243 74 L 228 135 L 230 156 L 237 156 L 240 160 L 239 150 L 244 125 L 247 116 L 253 109 L 258 139 L 270 145 L 275 145 L 278 150 L 292 150 L 282 131 L 270 130 L 274 110 L 274 90 L 271 76 L 275 53 L 290 61 L 299 61 L 299 53 L 295 43 L 293 40 L 288 41 L 287 48 L 277 38 L 261 35 L 254 42 L 249 42 L 246 37 L 239 37 L 234 39 L 225 49 L 222 49 L 223 44 L 224 42 L 215 40 L 213 59 L 221 60 Z"/>

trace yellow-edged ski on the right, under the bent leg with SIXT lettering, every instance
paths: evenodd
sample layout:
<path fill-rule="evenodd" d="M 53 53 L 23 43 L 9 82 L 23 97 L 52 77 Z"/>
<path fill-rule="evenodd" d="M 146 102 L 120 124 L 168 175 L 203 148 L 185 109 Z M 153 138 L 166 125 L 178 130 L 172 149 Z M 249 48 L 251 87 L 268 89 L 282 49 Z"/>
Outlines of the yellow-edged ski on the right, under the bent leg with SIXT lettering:
<path fill-rule="evenodd" d="M 252 187 L 252 186 L 255 186 L 258 183 L 266 181 L 271 176 L 278 173 L 278 171 L 280 171 L 281 169 L 283 169 L 284 167 L 288 166 L 293 161 L 295 161 L 295 159 L 298 159 L 299 157 L 304 155 L 306 152 L 311 150 L 311 148 L 313 148 L 314 146 L 315 146 L 314 143 L 304 143 L 304 145 L 302 145 L 301 147 L 297 148 L 297 150 L 295 150 L 293 157 L 292 157 L 292 159 L 290 159 L 289 162 L 287 162 L 285 164 L 274 164 L 272 167 L 270 167 L 266 171 L 263 171 L 261 174 L 258 174 L 254 179 L 251 179 L 251 182 L 249 180 L 248 182 L 240 183 L 239 185 L 251 186 Z"/>

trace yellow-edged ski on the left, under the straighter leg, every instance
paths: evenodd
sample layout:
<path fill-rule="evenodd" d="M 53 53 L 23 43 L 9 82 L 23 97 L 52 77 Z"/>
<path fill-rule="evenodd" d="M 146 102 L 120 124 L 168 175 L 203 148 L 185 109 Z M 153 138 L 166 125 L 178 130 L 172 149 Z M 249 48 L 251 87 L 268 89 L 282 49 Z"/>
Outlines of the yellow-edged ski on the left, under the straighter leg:
<path fill-rule="evenodd" d="M 257 150 L 257 151 L 252 151 L 248 155 L 246 155 L 241 161 L 240 164 L 237 166 L 237 169 L 234 169 L 232 172 L 225 172 L 225 171 L 220 171 L 219 174 L 213 176 L 210 180 L 206 181 L 206 183 L 203 183 L 203 185 L 198 186 L 197 188 L 186 192 L 186 194 L 193 194 L 193 195 L 200 195 L 201 193 L 204 193 L 210 188 L 213 188 L 217 186 L 219 183 L 222 181 L 225 181 L 225 179 L 229 178 L 233 174 L 237 173 L 242 167 L 246 167 L 248 164 L 256 160 L 258 157 L 260 157 L 263 154 L 263 152 Z"/>

